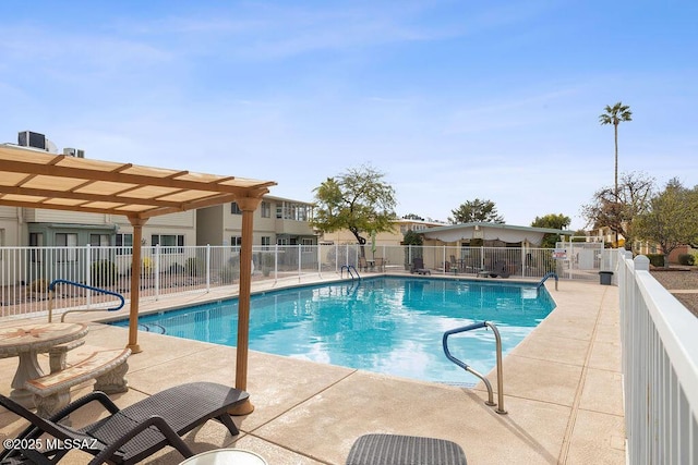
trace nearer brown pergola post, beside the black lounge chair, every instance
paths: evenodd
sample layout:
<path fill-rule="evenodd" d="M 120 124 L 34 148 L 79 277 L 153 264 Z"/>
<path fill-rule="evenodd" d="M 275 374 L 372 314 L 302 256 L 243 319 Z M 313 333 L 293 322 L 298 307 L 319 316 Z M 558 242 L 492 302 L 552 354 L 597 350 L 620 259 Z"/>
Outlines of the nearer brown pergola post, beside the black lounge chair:
<path fill-rule="evenodd" d="M 252 233 L 254 210 L 261 197 L 241 197 L 236 203 L 242 210 L 242 244 L 240 245 L 240 289 L 238 294 L 238 345 L 236 347 L 236 389 L 248 389 L 248 346 L 250 341 L 250 292 L 252 289 Z M 236 406 L 231 415 L 246 415 L 254 411 L 250 397 Z"/>

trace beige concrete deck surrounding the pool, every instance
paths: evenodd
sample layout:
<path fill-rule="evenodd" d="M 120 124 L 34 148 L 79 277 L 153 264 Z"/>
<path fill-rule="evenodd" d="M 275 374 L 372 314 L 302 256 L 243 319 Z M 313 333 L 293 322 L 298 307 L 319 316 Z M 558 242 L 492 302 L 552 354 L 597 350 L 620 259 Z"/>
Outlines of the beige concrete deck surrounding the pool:
<path fill-rule="evenodd" d="M 557 291 L 554 283 L 546 286 L 556 308 L 504 360 L 507 415 L 484 404 L 482 386 L 419 382 L 251 351 L 246 390 L 255 411 L 236 417 L 241 433 L 233 438 L 208 421 L 185 441 L 195 452 L 246 449 L 269 465 L 344 464 L 353 441 L 369 432 L 449 439 L 462 446 L 470 464 L 625 464 L 618 290 L 568 281 Z M 177 304 L 196 299 L 202 296 L 178 297 Z M 146 303 L 142 311 L 172 304 Z M 81 318 L 86 317 L 68 319 Z M 12 323 L 16 320 L 0 326 Z M 87 343 L 117 347 L 127 340 L 124 328 L 91 322 Z M 139 343 L 143 352 L 129 358 L 130 391 L 111 396 L 118 405 L 188 381 L 234 382 L 234 347 L 143 332 Z M 10 392 L 16 363 L 0 359 L 2 394 Z M 496 389 L 496 375 L 489 379 Z M 89 390 L 73 390 L 72 396 Z M 73 425 L 97 415 L 74 415 Z M 13 414 L 0 412 L 0 438 L 23 427 Z M 61 463 L 88 458 L 72 451 Z M 147 463 L 182 460 L 165 449 Z"/>

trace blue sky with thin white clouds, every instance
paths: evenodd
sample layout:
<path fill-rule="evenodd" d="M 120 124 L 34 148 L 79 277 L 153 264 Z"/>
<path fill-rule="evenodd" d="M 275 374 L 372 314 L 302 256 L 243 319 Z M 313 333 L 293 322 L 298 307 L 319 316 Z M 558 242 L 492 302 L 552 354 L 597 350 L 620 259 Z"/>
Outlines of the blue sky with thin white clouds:
<path fill-rule="evenodd" d="M 273 180 L 276 196 L 370 164 L 397 213 L 494 201 L 507 223 L 613 184 L 698 184 L 695 1 L 3 0 L 0 143 Z"/>

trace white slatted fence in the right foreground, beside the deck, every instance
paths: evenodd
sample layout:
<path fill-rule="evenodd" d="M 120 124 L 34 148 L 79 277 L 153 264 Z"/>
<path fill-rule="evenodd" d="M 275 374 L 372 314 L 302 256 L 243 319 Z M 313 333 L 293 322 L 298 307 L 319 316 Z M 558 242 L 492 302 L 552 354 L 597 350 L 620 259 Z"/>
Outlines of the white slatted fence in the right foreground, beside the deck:
<path fill-rule="evenodd" d="M 631 464 L 698 463 L 698 319 L 619 252 L 627 457 Z"/>

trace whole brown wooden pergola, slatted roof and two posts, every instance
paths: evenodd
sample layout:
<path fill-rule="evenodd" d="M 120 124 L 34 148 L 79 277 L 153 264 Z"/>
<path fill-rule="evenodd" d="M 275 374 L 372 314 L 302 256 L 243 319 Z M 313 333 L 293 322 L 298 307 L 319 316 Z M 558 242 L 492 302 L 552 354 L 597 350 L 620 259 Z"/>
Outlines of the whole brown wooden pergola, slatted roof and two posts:
<path fill-rule="evenodd" d="M 128 347 L 137 342 L 143 225 L 161 215 L 236 201 L 242 210 L 236 388 L 246 389 L 253 215 L 276 185 L 0 145 L 0 205 L 124 216 L 133 225 Z M 238 413 L 252 411 L 252 404 Z"/>

